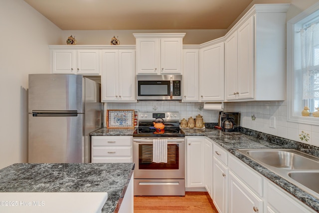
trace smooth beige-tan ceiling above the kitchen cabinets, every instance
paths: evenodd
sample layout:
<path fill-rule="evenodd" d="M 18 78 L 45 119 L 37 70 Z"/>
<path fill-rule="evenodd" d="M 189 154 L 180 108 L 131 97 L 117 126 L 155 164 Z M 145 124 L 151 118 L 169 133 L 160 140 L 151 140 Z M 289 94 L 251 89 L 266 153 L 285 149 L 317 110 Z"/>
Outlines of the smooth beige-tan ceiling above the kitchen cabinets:
<path fill-rule="evenodd" d="M 24 0 L 62 30 L 227 29 L 253 0 Z"/>

